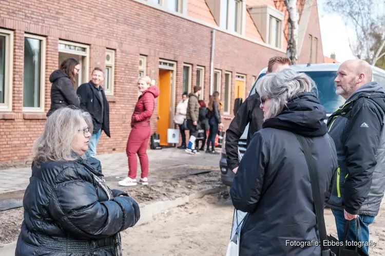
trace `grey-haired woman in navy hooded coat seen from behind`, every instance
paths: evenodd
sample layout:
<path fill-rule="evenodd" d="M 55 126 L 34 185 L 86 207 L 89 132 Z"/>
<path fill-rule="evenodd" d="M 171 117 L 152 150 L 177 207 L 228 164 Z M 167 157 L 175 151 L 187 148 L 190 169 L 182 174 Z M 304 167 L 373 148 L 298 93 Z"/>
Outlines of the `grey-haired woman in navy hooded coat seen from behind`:
<path fill-rule="evenodd" d="M 292 69 L 258 81 L 263 129 L 247 147 L 230 189 L 235 208 L 248 212 L 239 255 L 321 255 L 321 247 L 312 243 L 320 238 L 309 168 L 297 136 L 310 144 L 322 202 L 330 196 L 337 158 L 326 112 L 313 89 L 310 77 Z"/>

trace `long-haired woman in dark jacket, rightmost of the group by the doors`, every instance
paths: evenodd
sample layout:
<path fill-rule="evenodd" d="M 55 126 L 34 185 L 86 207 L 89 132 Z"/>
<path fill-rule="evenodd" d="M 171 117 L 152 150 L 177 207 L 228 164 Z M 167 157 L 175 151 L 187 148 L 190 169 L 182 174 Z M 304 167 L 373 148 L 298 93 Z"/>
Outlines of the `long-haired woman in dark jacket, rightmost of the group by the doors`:
<path fill-rule="evenodd" d="M 210 101 L 208 102 L 208 124 L 210 125 L 210 131 L 207 138 L 206 153 L 219 154 L 219 152 L 215 151 L 215 136 L 218 133 L 218 126 L 222 127 L 221 110 L 222 103 L 219 99 L 219 92 L 214 92 L 213 96 L 210 97 Z"/>

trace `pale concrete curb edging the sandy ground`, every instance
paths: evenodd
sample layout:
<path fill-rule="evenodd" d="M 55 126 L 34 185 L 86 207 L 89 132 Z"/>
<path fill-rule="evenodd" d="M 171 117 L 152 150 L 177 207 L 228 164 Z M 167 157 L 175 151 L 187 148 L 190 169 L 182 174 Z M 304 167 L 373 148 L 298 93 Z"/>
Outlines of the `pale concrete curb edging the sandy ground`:
<path fill-rule="evenodd" d="M 226 186 L 219 186 L 214 188 L 202 189 L 196 193 L 192 193 L 189 196 L 178 197 L 174 200 L 155 202 L 149 205 L 145 205 L 140 208 L 141 216 L 138 223 L 135 226 L 146 224 L 152 221 L 152 218 L 160 214 L 162 211 L 175 208 L 184 204 L 187 204 L 195 199 L 202 198 L 206 195 L 215 194 L 221 191 L 225 191 Z M 139 205 L 140 207 L 140 205 Z M 0 247 L 0 255 L 2 256 L 14 256 L 16 249 L 16 241 L 9 244 L 5 244 L 4 247 Z"/>

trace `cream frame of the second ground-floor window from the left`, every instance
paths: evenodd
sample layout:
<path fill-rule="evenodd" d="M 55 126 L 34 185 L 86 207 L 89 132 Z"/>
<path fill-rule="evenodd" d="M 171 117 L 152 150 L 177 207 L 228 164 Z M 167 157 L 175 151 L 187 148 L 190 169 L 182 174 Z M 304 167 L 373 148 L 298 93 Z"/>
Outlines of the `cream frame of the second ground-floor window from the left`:
<path fill-rule="evenodd" d="M 41 40 L 41 52 L 40 52 L 41 63 L 40 63 L 40 93 L 39 93 L 40 107 L 30 108 L 30 107 L 23 106 L 23 112 L 40 113 L 40 112 L 44 112 L 44 103 L 45 103 L 46 38 L 44 36 L 37 36 L 37 35 L 31 35 L 31 34 L 24 34 L 24 37 Z M 24 90 L 24 81 L 23 81 L 23 90 Z M 23 98 L 23 105 L 24 105 L 24 98 Z"/>

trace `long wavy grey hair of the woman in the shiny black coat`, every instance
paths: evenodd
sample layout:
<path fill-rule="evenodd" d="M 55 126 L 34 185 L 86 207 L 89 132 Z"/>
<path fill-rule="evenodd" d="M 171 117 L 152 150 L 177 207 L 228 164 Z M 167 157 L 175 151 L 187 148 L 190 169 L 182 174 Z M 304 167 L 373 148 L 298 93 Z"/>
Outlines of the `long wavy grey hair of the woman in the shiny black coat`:
<path fill-rule="evenodd" d="M 84 119 L 92 131 L 92 118 L 88 112 L 74 107 L 54 111 L 48 118 L 43 134 L 33 143 L 32 156 L 35 164 L 46 161 L 73 161 L 71 144 Z M 91 132 L 92 133 L 92 132 Z"/>

